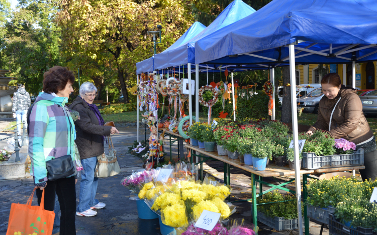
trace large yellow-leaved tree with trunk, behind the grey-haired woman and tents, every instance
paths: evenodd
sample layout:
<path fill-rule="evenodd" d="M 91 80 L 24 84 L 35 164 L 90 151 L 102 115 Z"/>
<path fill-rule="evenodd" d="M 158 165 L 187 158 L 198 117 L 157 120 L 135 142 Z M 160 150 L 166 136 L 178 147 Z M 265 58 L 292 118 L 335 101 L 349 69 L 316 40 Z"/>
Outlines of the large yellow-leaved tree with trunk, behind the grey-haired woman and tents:
<path fill-rule="evenodd" d="M 156 30 L 157 24 L 163 27 L 163 43 L 157 47 L 161 52 L 193 24 L 190 7 L 178 0 L 61 0 L 59 9 L 57 23 L 64 32 L 65 57 L 89 57 L 99 64 L 110 61 L 126 103 L 127 88 L 136 80 L 136 62 L 153 55 L 148 31 Z"/>

